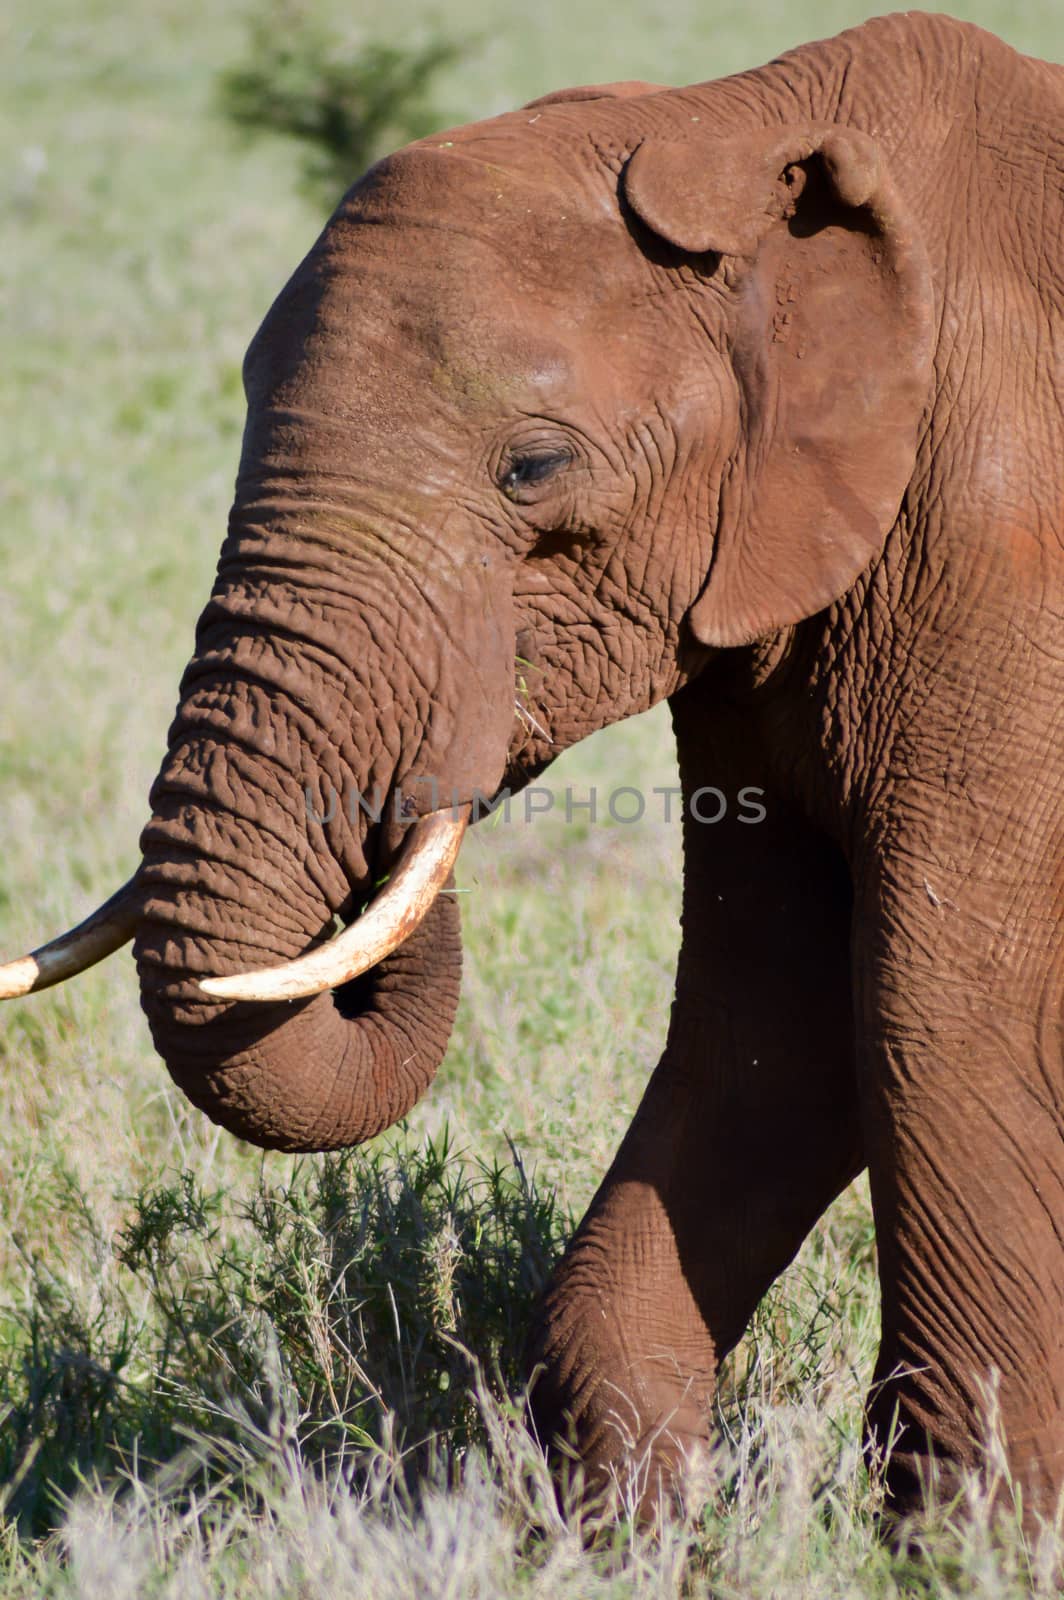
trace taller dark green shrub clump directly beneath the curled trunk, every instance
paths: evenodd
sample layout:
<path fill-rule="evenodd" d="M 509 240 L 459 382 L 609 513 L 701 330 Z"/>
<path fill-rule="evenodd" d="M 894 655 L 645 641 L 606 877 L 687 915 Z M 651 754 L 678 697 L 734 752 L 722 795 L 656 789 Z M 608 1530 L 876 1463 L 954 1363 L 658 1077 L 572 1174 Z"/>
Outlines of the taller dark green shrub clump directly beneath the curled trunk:
<path fill-rule="evenodd" d="M 533 1302 L 571 1230 L 514 1165 L 458 1157 L 446 1133 L 398 1160 L 322 1162 L 310 1186 L 261 1189 L 266 1251 L 250 1290 L 317 1418 L 374 1442 L 480 1440 L 472 1358 L 504 1397 L 522 1382 Z"/>

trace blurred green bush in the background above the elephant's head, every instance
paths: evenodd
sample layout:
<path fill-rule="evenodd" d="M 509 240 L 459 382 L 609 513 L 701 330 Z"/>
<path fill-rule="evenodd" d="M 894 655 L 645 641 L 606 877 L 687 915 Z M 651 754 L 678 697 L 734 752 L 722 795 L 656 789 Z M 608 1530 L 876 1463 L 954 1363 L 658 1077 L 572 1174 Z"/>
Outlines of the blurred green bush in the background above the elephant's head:
<path fill-rule="evenodd" d="M 290 0 L 253 16 L 248 35 L 246 64 L 222 75 L 222 110 L 242 128 L 299 139 L 304 184 L 330 206 L 379 155 L 450 120 L 432 82 L 470 48 L 435 29 L 408 46 L 355 43 Z"/>

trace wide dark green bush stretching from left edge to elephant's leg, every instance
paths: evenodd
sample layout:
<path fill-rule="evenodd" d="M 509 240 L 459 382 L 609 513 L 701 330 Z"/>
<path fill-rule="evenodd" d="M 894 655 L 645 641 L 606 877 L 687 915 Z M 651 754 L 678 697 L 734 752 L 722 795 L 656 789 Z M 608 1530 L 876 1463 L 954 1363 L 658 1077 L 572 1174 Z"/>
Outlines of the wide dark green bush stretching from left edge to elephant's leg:
<path fill-rule="evenodd" d="M 446 1133 L 306 1160 L 286 1182 L 264 1165 L 235 1205 L 179 1173 L 134 1197 L 117 1240 L 61 1187 L 98 1277 L 86 1293 L 29 1261 L 0 1328 L 0 1501 L 34 1533 L 78 1483 L 189 1440 L 211 1440 L 208 1477 L 280 1434 L 347 1482 L 397 1448 L 411 1485 L 440 1450 L 485 1445 L 477 1392 L 520 1394 L 571 1230 L 517 1152 L 467 1163 Z"/>

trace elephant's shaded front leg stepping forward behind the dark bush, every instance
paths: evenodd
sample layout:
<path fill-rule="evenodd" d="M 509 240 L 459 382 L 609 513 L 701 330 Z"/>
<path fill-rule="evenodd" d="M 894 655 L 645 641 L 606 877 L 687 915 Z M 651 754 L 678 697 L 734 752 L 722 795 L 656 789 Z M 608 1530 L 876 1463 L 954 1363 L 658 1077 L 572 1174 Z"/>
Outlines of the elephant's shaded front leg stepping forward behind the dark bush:
<path fill-rule="evenodd" d="M 685 806 L 666 1053 L 530 1347 L 539 1438 L 574 1445 L 592 1485 L 635 1467 L 645 1512 L 709 1437 L 722 1357 L 864 1165 L 848 872 L 766 786 L 765 819 L 738 821 L 738 781 L 757 784 L 757 765 L 712 773 L 731 814 L 698 822 Z M 688 800 L 696 778 L 683 771 Z"/>

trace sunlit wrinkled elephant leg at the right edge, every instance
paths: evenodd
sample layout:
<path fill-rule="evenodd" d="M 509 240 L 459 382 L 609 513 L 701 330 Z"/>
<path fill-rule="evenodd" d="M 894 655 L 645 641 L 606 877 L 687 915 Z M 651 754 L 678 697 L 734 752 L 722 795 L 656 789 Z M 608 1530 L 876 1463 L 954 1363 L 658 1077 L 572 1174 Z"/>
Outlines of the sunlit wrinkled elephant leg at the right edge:
<path fill-rule="evenodd" d="M 906 853 L 856 928 L 883 1288 L 869 1432 L 898 1514 L 926 1483 L 952 1494 L 992 1432 L 1029 1520 L 1064 1490 L 1064 941 L 1059 882 L 1030 874 L 1040 907 L 1005 882 L 1018 853 L 978 877 Z"/>

